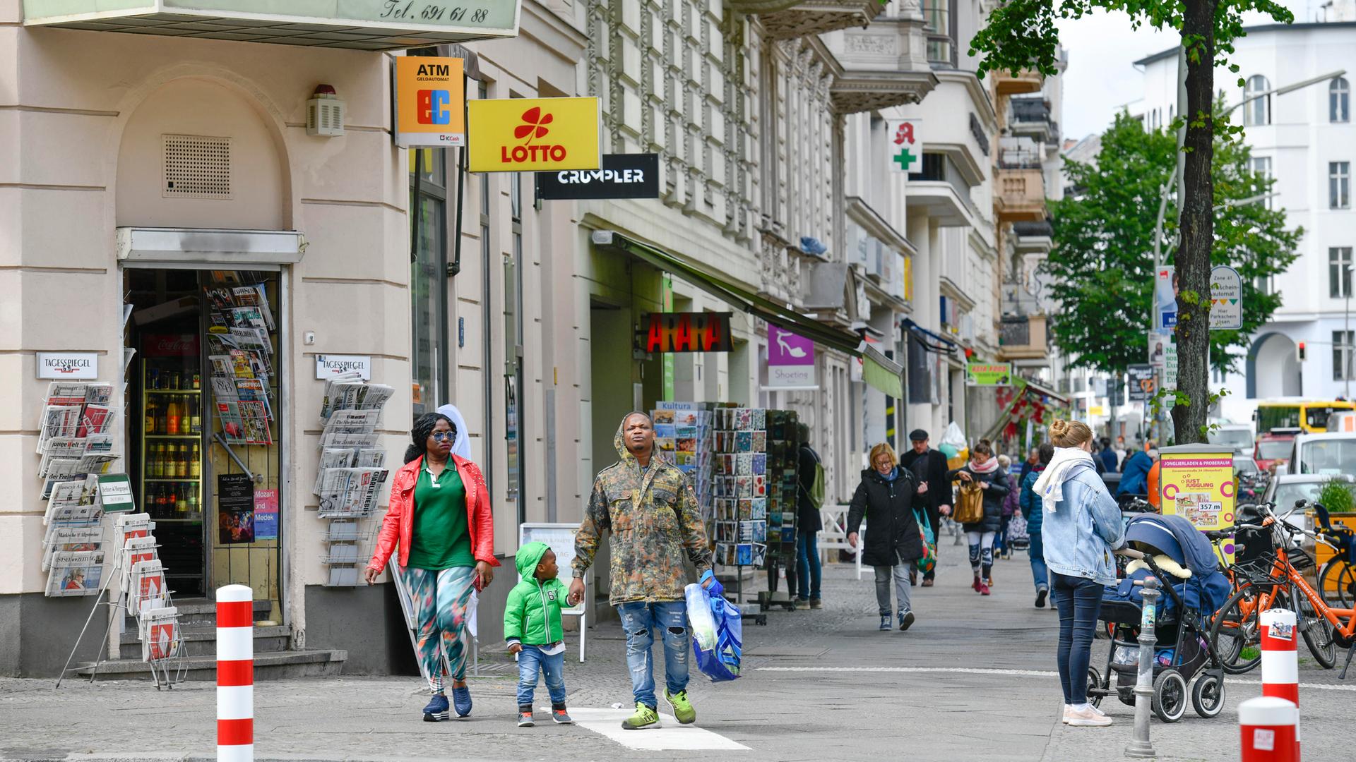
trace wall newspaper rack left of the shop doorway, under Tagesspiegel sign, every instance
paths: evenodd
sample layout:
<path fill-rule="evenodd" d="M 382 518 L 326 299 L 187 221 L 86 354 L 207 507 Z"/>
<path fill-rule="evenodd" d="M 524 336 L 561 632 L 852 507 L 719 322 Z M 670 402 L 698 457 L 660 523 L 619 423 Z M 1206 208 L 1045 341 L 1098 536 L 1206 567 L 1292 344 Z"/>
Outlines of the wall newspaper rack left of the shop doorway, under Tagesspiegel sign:
<path fill-rule="evenodd" d="M 98 595 L 104 579 L 103 503 L 99 476 L 118 460 L 113 384 L 53 381 L 38 437 L 43 513 L 45 595 Z"/>

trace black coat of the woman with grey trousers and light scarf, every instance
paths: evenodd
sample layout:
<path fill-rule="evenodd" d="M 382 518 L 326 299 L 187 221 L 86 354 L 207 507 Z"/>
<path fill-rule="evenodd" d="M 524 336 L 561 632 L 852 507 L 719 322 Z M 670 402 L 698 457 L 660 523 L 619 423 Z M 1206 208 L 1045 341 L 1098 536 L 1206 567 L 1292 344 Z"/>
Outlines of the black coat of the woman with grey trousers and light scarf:
<path fill-rule="evenodd" d="M 871 523 L 862 538 L 861 563 L 872 567 L 892 567 L 923 557 L 923 542 L 914 518 L 914 491 L 917 480 L 907 468 L 898 470 L 894 481 L 887 481 L 876 469 L 861 472 L 861 484 L 852 496 L 848 510 L 848 533 L 861 527 L 861 519 Z"/>

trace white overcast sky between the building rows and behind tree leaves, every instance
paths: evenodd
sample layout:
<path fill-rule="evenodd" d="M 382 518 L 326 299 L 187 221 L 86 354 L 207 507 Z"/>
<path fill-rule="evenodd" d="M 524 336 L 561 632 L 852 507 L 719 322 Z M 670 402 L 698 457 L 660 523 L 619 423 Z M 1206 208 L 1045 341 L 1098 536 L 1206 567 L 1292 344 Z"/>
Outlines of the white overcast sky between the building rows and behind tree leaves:
<path fill-rule="evenodd" d="M 1313 20 L 1321 0 L 1281 0 L 1295 14 L 1296 22 Z M 1245 23 L 1265 23 L 1265 16 L 1250 14 Z M 1105 130 L 1116 113 L 1142 95 L 1140 72 L 1134 62 L 1144 56 L 1178 45 L 1176 31 L 1151 27 L 1130 28 L 1125 14 L 1098 11 L 1077 20 L 1063 20 L 1059 39 L 1069 50 L 1064 72 L 1064 113 L 1060 133 L 1081 140 Z"/>

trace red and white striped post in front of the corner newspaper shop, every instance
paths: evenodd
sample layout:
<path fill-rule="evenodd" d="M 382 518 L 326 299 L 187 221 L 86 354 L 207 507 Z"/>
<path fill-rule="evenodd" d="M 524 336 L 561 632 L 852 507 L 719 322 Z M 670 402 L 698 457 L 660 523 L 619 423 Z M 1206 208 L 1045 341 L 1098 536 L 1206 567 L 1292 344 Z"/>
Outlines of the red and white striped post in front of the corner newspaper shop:
<path fill-rule="evenodd" d="M 254 590 L 217 588 L 217 759 L 254 761 Z"/>

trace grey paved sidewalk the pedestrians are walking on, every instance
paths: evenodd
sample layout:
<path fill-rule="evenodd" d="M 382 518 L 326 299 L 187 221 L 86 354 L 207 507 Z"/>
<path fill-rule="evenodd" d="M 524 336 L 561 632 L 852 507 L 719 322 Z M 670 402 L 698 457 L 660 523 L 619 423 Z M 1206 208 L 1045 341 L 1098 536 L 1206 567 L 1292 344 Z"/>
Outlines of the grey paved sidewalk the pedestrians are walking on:
<path fill-rule="evenodd" d="M 316 678 L 255 687 L 259 759 L 1021 759 L 1121 758 L 1134 709 L 1111 700 L 1111 728 L 1067 728 L 1054 663 L 1055 614 L 1032 606 L 1024 556 L 999 560 L 994 595 L 972 593 L 963 549 L 942 540 L 938 584 L 914 588 L 907 633 L 876 630 L 869 571 L 824 572 L 826 607 L 770 611 L 744 628 L 744 677 L 712 685 L 694 673 L 698 725 L 749 751 L 637 751 L 580 727 L 517 728 L 513 670 L 483 649 L 494 674 L 472 681 L 471 720 L 423 723 L 415 678 Z M 590 630 L 589 662 L 567 660 L 570 705 L 631 705 L 621 630 Z M 571 643 L 574 645 L 574 643 Z M 1106 644 L 1094 645 L 1094 663 Z M 656 649 L 656 655 L 658 655 Z M 575 654 L 578 654 L 575 651 Z M 498 662 L 498 666 L 495 664 Z M 1304 757 L 1351 758 L 1356 679 L 1300 666 Z M 542 689 L 538 689 L 542 690 Z M 1229 683 L 1224 712 L 1157 720 L 1161 759 L 1238 759 L 1237 705 L 1261 693 L 1258 674 Z M 210 759 L 214 690 L 186 683 L 0 679 L 3 759 Z"/>

